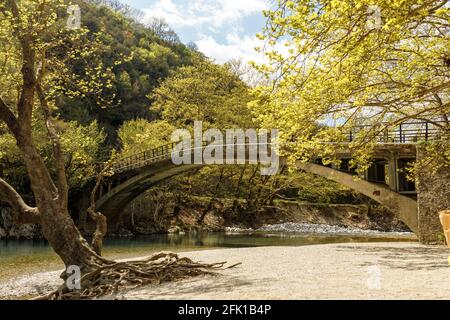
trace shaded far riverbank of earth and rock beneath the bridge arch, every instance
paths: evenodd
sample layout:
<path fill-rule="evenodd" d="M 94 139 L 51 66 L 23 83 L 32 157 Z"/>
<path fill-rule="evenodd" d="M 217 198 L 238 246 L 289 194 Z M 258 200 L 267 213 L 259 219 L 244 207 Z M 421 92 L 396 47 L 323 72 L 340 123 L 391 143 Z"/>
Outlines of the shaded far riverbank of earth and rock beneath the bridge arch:
<path fill-rule="evenodd" d="M 155 218 L 155 210 L 140 208 L 138 212 L 128 208 L 119 226 L 108 226 L 111 237 L 134 237 L 167 233 L 224 232 L 227 228 L 258 229 L 274 224 L 311 224 L 332 226 L 336 229 L 360 229 L 367 233 L 406 232 L 409 229 L 395 215 L 381 206 L 352 204 L 319 204 L 297 201 L 275 201 L 275 206 L 265 210 L 249 212 L 245 201 L 233 199 L 210 199 L 193 197 L 184 203 L 183 208 L 175 210 L 175 202 L 168 201 L 161 216 Z M 211 207 L 211 201 L 214 205 Z M 151 206 L 149 201 L 146 205 Z M 134 208 L 133 206 L 131 206 Z M 131 210 L 131 212 L 130 212 Z M 199 220 L 204 215 L 202 223 Z M 175 213 L 176 212 L 176 213 Z M 41 240 L 42 230 L 37 225 L 16 225 L 9 208 L 0 207 L 0 240 Z M 85 235 L 94 232 L 93 223 L 82 229 Z M 272 231 L 272 230 L 269 230 Z M 296 230 L 294 230 L 297 232 Z M 334 229 L 330 228 L 333 232 Z M 291 231 L 287 231 L 291 232 Z M 300 231 L 303 232 L 303 231 Z M 325 232 L 327 233 L 327 232 Z M 347 232 L 344 232 L 347 233 Z"/>

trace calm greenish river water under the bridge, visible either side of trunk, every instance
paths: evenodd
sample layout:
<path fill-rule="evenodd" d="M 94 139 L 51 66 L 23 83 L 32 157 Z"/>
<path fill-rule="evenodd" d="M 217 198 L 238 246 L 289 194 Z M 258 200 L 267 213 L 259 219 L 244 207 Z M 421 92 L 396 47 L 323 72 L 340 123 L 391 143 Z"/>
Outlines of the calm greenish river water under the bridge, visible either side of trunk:
<path fill-rule="evenodd" d="M 205 233 L 106 239 L 104 255 L 114 259 L 147 256 L 158 251 L 187 252 L 215 248 L 304 246 L 351 242 L 414 241 L 408 234 L 323 235 L 282 233 Z M 46 241 L 0 241 L 0 282 L 24 274 L 59 270 L 63 265 Z"/>

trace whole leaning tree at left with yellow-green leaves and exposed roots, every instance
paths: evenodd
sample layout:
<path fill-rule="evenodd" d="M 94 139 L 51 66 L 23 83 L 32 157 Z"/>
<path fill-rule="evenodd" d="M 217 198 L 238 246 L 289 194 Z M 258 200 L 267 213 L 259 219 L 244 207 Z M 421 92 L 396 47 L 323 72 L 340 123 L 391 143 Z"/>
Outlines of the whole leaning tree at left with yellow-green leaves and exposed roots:
<path fill-rule="evenodd" d="M 220 265 L 198 265 L 176 255 L 160 254 L 140 262 L 115 263 L 100 256 L 106 222 L 95 212 L 95 198 L 89 212 L 98 222 L 94 242 L 81 236 L 68 212 L 66 162 L 54 111 L 58 98 L 96 95 L 108 106 L 111 70 L 96 59 L 97 35 L 79 28 L 67 30 L 68 1 L 0 2 L 0 122 L 5 124 L 20 149 L 27 169 L 34 203 L 0 178 L 0 199 L 17 213 L 17 222 L 42 226 L 43 234 L 67 268 L 82 272 L 81 291 L 66 286 L 51 297 L 93 297 L 111 293 L 121 286 L 155 283 L 204 273 Z M 72 73 L 79 68 L 83 79 Z M 33 135 L 33 119 L 44 119 L 52 143 L 55 169 L 46 165 Z M 52 174 L 54 171 L 54 174 Z M 97 186 L 101 177 L 98 178 Z M 94 194 L 94 193 L 93 193 Z M 100 232 L 98 232 L 100 231 Z M 94 250 L 95 249 L 95 250 Z M 163 260 L 161 260 L 163 259 Z M 63 273 L 62 277 L 67 278 Z M 76 288 L 76 286 L 75 286 Z"/>

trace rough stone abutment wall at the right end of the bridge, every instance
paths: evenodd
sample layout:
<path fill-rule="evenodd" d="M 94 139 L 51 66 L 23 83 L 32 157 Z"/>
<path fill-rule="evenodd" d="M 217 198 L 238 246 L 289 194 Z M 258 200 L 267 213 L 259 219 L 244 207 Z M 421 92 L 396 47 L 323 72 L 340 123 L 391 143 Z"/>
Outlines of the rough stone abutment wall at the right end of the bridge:
<path fill-rule="evenodd" d="M 417 158 L 422 159 L 424 148 L 417 148 Z M 436 173 L 424 168 L 417 173 L 419 239 L 424 244 L 443 244 L 444 232 L 439 212 L 450 209 L 450 170 Z"/>

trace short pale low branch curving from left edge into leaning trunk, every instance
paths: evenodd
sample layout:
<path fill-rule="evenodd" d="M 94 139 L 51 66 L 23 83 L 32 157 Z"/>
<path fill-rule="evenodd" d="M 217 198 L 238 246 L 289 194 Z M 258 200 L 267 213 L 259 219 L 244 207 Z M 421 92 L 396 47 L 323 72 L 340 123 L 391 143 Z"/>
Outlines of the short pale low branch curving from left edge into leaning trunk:
<path fill-rule="evenodd" d="M 28 206 L 23 198 L 9 185 L 0 178 L 0 199 L 7 202 L 17 213 L 17 223 L 21 224 L 40 224 L 41 217 L 37 208 Z"/>

